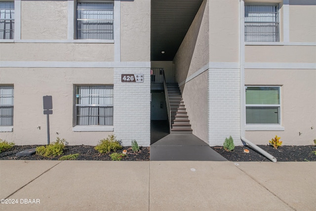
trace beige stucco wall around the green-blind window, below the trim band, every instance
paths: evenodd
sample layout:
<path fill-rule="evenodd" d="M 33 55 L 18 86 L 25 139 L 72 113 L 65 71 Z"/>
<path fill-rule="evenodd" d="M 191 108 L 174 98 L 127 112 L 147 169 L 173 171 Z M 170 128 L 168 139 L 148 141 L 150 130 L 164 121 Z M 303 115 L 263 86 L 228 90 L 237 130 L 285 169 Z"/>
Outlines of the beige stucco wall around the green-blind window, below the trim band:
<path fill-rule="evenodd" d="M 255 144 L 268 144 L 277 135 L 283 145 L 313 144 L 316 138 L 315 82 L 315 70 L 245 70 L 246 85 L 281 85 L 281 126 L 285 129 L 246 131 L 246 138 Z"/>

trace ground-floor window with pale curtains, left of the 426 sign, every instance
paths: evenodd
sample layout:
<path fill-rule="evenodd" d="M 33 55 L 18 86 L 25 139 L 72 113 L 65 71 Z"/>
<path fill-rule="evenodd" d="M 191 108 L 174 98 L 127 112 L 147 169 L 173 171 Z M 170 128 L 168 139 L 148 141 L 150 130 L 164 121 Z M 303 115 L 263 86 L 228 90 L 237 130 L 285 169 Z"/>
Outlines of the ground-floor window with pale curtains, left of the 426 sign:
<path fill-rule="evenodd" d="M 113 126 L 113 85 L 76 87 L 76 125 Z"/>

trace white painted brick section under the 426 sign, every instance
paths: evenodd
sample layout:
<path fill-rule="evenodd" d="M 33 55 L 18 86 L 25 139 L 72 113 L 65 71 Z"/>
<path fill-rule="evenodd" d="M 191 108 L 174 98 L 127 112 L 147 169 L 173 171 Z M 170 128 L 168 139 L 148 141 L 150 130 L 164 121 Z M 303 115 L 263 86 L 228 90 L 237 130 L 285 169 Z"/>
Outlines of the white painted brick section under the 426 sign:
<path fill-rule="evenodd" d="M 121 74 L 144 74 L 144 82 L 122 83 Z M 150 145 L 150 68 L 114 69 L 114 133 L 123 146 Z"/>

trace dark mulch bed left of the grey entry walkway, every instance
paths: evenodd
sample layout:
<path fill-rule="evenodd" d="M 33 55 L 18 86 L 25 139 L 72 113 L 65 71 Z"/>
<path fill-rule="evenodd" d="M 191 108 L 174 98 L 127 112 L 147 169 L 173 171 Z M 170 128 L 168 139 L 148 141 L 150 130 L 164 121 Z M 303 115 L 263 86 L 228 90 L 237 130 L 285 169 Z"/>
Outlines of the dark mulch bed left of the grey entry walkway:
<path fill-rule="evenodd" d="M 63 155 L 56 156 L 54 158 L 46 158 L 36 154 L 32 156 L 15 156 L 15 154 L 18 152 L 36 148 L 38 146 L 39 145 L 13 146 L 11 149 L 0 153 L 0 160 L 58 160 L 64 155 L 79 153 L 77 160 L 80 161 L 111 161 L 110 155 L 113 153 L 100 154 L 94 149 L 94 146 L 75 145 L 66 146 Z M 140 151 L 138 153 L 133 153 L 130 147 L 123 147 L 121 150 L 118 150 L 117 153 L 121 153 L 124 149 L 127 150 L 127 154 L 122 158 L 121 161 L 149 161 L 149 147 L 140 147 Z"/>

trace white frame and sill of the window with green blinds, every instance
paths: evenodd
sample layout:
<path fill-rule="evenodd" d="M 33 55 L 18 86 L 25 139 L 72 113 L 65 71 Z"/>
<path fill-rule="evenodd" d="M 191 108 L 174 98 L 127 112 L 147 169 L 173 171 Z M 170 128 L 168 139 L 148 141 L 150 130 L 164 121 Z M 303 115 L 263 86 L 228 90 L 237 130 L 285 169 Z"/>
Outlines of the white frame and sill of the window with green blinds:
<path fill-rule="evenodd" d="M 246 89 L 247 87 L 277 87 L 279 89 L 279 104 L 246 104 Z M 282 107 L 281 107 L 281 86 L 280 85 L 273 85 L 273 86 L 265 86 L 265 85 L 245 85 L 244 88 L 244 96 L 245 96 L 245 113 L 244 113 L 244 122 L 245 122 L 245 130 L 267 130 L 267 131 L 282 131 L 284 127 L 281 126 L 282 124 Z M 246 123 L 246 108 L 247 107 L 278 107 L 279 109 L 279 123 L 278 124 L 247 124 Z"/>

